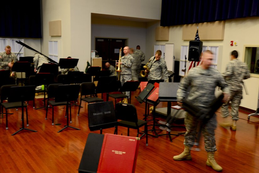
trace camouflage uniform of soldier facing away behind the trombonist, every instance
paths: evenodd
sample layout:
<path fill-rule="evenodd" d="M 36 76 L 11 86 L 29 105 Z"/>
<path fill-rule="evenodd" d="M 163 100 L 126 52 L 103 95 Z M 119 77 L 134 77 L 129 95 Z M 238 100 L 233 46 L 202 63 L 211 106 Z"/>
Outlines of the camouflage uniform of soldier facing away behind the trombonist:
<path fill-rule="evenodd" d="M 132 80 L 138 81 L 138 75 L 140 73 L 141 68 L 141 62 L 145 60 L 145 54 L 139 50 L 134 50 L 134 53 L 131 54 L 133 57 L 133 63 L 132 63 Z"/>

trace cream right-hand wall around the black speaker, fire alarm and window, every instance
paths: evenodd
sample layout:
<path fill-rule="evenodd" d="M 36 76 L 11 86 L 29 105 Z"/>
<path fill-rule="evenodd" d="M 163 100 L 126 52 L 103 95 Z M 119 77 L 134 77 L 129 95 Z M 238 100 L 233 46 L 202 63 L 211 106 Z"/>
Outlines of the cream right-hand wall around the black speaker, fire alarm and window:
<path fill-rule="evenodd" d="M 180 52 L 182 45 L 189 45 L 189 41 L 182 40 L 182 26 L 176 25 L 170 26 L 169 41 L 159 41 L 157 44 L 174 43 L 174 55 L 175 60 L 180 60 Z M 203 45 L 206 46 L 223 46 L 223 53 L 220 55 L 218 64 L 218 70 L 224 72 L 226 68 L 226 63 L 229 62 L 230 52 L 237 50 L 239 52 L 239 57 L 241 61 L 244 60 L 244 45 L 257 44 L 259 38 L 259 17 L 249 17 L 235 20 L 225 21 L 224 30 L 224 40 L 214 40 L 214 41 L 203 41 Z M 152 30 L 147 32 L 147 38 L 153 37 Z M 195 36 L 196 31 L 194 31 L 193 36 Z M 238 46 L 230 46 L 230 41 L 238 41 Z M 153 43 L 152 43 L 153 44 Z M 244 80 L 247 87 L 248 94 L 246 95 L 243 90 L 243 100 L 240 106 L 248 109 L 257 109 L 258 95 L 259 95 L 259 75 L 258 77 L 251 77 Z"/>

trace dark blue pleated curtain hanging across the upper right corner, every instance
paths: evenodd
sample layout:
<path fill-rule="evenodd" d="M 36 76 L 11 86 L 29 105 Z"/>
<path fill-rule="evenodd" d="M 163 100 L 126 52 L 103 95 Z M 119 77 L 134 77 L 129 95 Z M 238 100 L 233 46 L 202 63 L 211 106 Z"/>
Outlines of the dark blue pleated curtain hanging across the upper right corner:
<path fill-rule="evenodd" d="M 162 0 L 161 26 L 259 16 L 258 0 Z"/>

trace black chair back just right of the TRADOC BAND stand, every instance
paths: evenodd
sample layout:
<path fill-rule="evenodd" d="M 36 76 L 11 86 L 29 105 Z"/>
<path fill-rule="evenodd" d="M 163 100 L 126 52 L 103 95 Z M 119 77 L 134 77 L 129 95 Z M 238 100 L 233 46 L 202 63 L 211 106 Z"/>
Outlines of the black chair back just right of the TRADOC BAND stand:
<path fill-rule="evenodd" d="M 138 122 L 137 110 L 132 104 L 116 103 L 115 114 L 118 120 Z"/>

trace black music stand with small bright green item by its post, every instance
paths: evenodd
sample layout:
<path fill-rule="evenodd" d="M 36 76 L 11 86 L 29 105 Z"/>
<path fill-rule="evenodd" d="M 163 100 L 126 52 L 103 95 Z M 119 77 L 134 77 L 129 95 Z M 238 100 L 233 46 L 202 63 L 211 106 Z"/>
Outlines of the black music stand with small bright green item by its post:
<path fill-rule="evenodd" d="M 44 85 L 43 107 L 40 107 L 40 108 L 37 108 L 37 109 L 41 109 L 41 108 L 46 109 L 46 87 L 51 83 L 54 83 L 54 74 L 51 74 L 51 73 L 37 73 L 35 75 L 35 84 L 37 86 Z"/>

